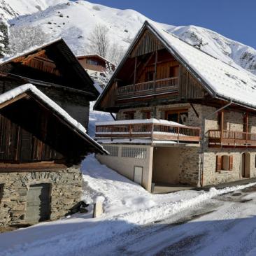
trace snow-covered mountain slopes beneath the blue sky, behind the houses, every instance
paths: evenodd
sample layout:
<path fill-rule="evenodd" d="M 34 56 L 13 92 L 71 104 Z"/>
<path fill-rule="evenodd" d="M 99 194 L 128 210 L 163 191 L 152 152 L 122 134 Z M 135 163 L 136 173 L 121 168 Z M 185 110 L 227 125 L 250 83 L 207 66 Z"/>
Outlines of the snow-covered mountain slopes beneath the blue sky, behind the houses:
<path fill-rule="evenodd" d="M 14 14 L 3 10 L 5 6 Z M 62 36 L 77 55 L 90 53 L 87 48 L 88 36 L 96 24 L 106 24 L 111 42 L 126 49 L 143 22 L 151 21 L 135 10 L 108 8 L 82 0 L 0 0 L 0 8 L 0 13 L 4 13 L 4 17 L 15 26 L 40 26 L 53 38 Z M 17 18 L 17 15 L 23 16 Z M 193 45 L 202 39 L 202 50 L 256 74 L 255 49 L 201 27 L 161 26 Z"/>

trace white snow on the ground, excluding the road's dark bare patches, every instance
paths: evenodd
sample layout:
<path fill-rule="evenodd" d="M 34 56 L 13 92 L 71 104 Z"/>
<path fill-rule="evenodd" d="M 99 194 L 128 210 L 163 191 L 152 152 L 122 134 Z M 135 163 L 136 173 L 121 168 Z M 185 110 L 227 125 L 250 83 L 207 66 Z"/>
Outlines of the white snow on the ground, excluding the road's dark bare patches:
<path fill-rule="evenodd" d="M 168 220 L 168 225 L 170 225 L 181 217 L 191 215 L 193 211 L 199 211 L 199 209 L 205 211 L 208 206 L 204 207 L 202 204 L 214 201 L 213 197 L 255 185 L 241 185 L 222 190 L 211 189 L 209 192 L 185 190 L 171 194 L 150 194 L 131 180 L 99 164 L 93 155 L 85 159 L 82 169 L 83 198 L 88 203 L 92 203 L 97 197 L 104 197 L 104 215 L 92 219 L 92 208 L 90 208 L 89 213 L 77 213 L 63 220 L 43 222 L 26 229 L 0 234 L 0 255 L 99 255 L 99 252 L 101 255 L 104 255 L 104 252 L 106 255 L 112 255 L 113 252 L 118 254 L 115 248 L 118 244 L 121 245 L 121 241 L 116 243 L 117 239 L 122 238 L 122 243 L 125 245 L 127 239 L 128 241 L 134 239 L 136 232 L 143 233 L 145 225 L 155 229 L 164 225 L 165 220 Z M 228 201 L 226 204 L 223 201 L 223 206 L 218 206 L 220 213 L 216 210 L 216 214 L 210 213 L 207 215 L 208 219 L 204 221 L 221 223 L 221 220 L 229 222 L 233 218 L 237 220 L 241 217 L 248 218 L 255 212 L 256 194 L 248 194 L 245 199 L 252 199 L 254 205 L 250 208 L 247 204 L 239 203 L 239 207 L 244 208 L 243 211 L 243 208 L 232 205 Z M 200 231 L 199 227 L 202 227 L 201 221 L 203 220 L 197 223 L 197 220 L 194 220 L 196 233 Z M 157 222 L 161 225 L 153 224 Z M 251 223 L 248 232 L 253 227 L 255 226 Z M 135 233 L 131 232 L 132 230 Z M 170 230 L 166 228 L 165 230 L 170 236 L 171 227 Z M 130 233 L 127 234 L 127 232 Z M 177 233 L 178 237 L 181 238 L 185 234 L 193 233 L 194 229 L 188 227 L 182 231 L 179 229 L 178 232 L 180 232 Z M 150 234 L 146 236 L 148 239 L 150 239 Z M 215 234 L 218 234 L 218 230 Z M 166 239 L 166 236 L 163 237 Z M 174 243 L 176 239 L 173 237 L 173 240 L 170 238 L 168 241 Z M 155 243 L 157 242 L 166 245 L 166 241 L 162 243 L 158 239 L 155 240 Z M 145 247 L 145 243 L 143 245 Z M 148 245 L 150 245 L 149 242 Z M 138 252 L 143 252 L 141 247 L 137 249 Z M 217 254 L 213 253 L 213 255 Z"/>

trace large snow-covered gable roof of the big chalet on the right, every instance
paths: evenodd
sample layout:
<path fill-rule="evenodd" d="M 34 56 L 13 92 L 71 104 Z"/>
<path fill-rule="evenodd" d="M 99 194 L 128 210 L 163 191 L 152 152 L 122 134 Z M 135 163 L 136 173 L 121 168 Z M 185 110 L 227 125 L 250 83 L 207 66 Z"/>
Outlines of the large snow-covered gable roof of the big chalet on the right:
<path fill-rule="evenodd" d="M 99 102 L 111 86 L 113 79 L 120 71 L 121 66 L 134 48 L 138 38 L 144 29 L 149 29 L 163 43 L 169 52 L 192 73 L 192 75 L 204 85 L 212 97 L 224 100 L 232 100 L 234 104 L 256 108 L 256 76 L 240 66 L 231 66 L 220 59 L 217 59 L 199 48 L 181 40 L 174 34 L 162 29 L 157 24 L 146 21 L 131 43 L 127 54 L 120 62 L 108 85 L 104 88 L 94 105 L 97 109 Z"/>

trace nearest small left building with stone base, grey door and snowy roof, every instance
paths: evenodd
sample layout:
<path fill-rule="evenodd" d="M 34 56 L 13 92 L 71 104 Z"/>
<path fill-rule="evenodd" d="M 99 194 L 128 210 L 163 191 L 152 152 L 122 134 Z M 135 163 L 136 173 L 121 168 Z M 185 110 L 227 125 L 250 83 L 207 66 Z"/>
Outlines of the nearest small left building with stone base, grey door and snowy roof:
<path fill-rule="evenodd" d="M 106 153 L 34 85 L 0 95 L 0 226 L 56 220 L 81 200 L 79 164 Z"/>

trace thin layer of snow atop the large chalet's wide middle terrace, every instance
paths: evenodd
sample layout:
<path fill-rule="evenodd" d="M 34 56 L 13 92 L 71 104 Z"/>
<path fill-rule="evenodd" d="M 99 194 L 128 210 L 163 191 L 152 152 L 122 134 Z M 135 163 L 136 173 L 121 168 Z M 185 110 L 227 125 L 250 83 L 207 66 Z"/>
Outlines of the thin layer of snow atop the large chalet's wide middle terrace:
<path fill-rule="evenodd" d="M 162 119 L 134 119 L 134 120 L 118 120 L 118 121 L 105 121 L 105 122 L 96 122 L 95 125 L 132 125 L 132 124 L 155 124 L 155 125 L 180 125 L 178 122 L 167 121 Z"/>

